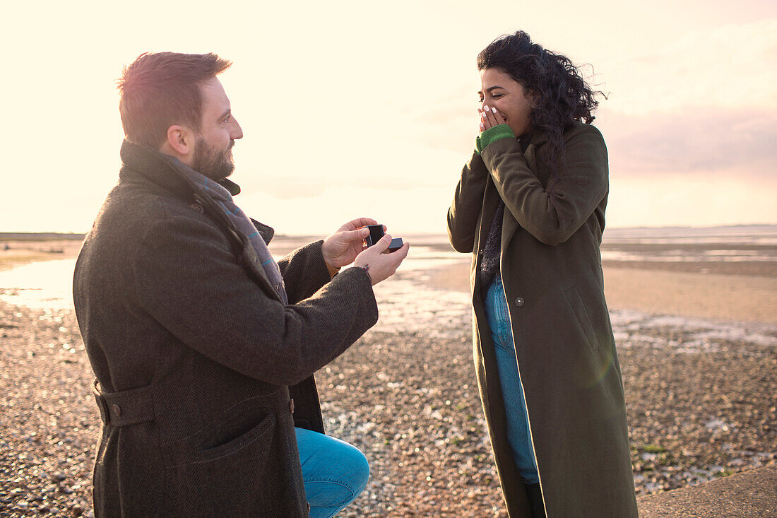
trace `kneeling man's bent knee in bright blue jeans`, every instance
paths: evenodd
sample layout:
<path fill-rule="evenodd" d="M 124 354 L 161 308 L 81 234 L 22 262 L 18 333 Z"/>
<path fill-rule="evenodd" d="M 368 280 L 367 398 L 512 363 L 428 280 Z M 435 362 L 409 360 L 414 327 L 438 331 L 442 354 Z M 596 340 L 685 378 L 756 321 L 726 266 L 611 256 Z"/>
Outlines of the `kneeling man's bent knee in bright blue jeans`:
<path fill-rule="evenodd" d="M 364 453 L 340 439 L 295 428 L 312 518 L 329 518 L 364 491 L 370 465 Z"/>

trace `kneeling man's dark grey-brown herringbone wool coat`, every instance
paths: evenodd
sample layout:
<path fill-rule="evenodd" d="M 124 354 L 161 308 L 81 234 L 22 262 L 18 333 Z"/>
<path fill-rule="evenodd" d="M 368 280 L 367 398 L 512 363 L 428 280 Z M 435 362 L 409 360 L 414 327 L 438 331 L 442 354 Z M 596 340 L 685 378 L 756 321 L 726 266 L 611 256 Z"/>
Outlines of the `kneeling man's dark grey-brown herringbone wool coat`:
<path fill-rule="evenodd" d="M 73 285 L 103 415 L 95 515 L 308 516 L 294 425 L 323 432 L 312 374 L 377 321 L 370 278 L 330 281 L 312 243 L 279 261 L 284 306 L 186 166 L 121 158 Z"/>

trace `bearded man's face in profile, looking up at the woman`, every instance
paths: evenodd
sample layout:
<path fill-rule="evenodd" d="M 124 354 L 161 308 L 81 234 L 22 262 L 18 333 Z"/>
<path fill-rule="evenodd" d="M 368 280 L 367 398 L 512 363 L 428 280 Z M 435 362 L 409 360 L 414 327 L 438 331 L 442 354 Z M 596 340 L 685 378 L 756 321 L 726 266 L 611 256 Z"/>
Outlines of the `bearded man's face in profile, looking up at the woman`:
<path fill-rule="evenodd" d="M 217 78 L 204 82 L 200 91 L 203 97 L 202 122 L 194 143 L 192 168 L 218 181 L 235 170 L 232 146 L 235 139 L 242 138 L 242 129 L 232 117 L 229 98 Z"/>

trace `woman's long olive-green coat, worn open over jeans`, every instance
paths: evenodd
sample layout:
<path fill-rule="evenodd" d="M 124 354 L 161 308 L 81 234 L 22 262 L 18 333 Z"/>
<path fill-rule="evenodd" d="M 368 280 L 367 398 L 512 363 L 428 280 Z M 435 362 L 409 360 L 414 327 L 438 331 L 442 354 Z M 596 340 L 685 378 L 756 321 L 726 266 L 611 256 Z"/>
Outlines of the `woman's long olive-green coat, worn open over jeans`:
<path fill-rule="evenodd" d="M 501 275 L 548 518 L 637 516 L 625 401 L 605 303 L 599 245 L 605 228 L 608 159 L 587 124 L 563 134 L 565 159 L 552 174 L 502 138 L 472 156 L 448 212 L 448 234 L 472 252 L 474 356 L 480 396 L 511 518 L 529 516 L 510 446 L 490 331 L 483 313 L 480 254 L 499 199 L 506 205 Z"/>

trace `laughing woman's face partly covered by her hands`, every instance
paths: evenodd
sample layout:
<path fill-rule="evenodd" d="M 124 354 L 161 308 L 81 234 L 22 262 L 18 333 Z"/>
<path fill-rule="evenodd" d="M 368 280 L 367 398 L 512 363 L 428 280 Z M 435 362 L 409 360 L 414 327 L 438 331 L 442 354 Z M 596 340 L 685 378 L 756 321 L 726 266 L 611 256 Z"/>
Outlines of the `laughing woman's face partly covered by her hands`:
<path fill-rule="evenodd" d="M 531 99 L 527 94 L 520 82 L 498 68 L 480 71 L 478 95 L 482 107 L 497 108 L 516 137 L 531 131 Z"/>

